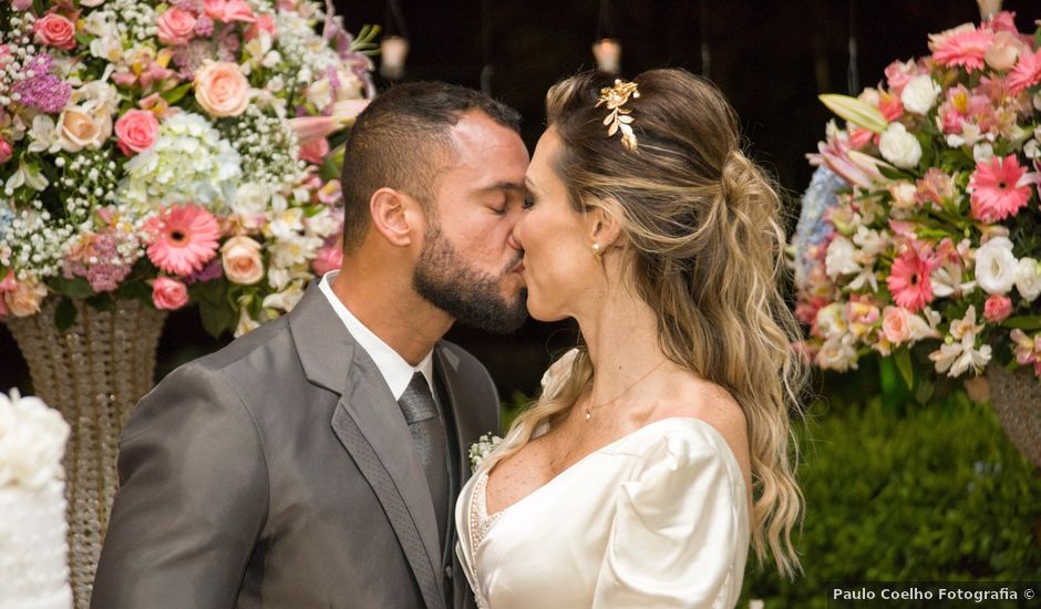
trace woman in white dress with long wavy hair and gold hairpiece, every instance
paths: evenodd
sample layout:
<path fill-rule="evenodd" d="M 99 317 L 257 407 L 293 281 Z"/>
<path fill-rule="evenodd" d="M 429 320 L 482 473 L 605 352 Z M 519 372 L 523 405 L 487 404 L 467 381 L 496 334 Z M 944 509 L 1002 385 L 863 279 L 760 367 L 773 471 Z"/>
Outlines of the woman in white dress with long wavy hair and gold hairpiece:
<path fill-rule="evenodd" d="M 547 115 L 513 236 L 583 341 L 463 489 L 466 576 L 494 609 L 732 607 L 750 545 L 798 568 L 777 194 L 688 72 L 579 74 Z"/>

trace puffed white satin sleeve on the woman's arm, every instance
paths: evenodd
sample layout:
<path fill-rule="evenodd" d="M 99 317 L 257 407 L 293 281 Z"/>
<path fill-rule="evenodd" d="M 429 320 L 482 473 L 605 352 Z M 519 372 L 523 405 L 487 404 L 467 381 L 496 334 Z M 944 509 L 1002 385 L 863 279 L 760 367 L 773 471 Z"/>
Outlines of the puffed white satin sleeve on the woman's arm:
<path fill-rule="evenodd" d="M 592 606 L 733 607 L 749 548 L 744 479 L 723 437 L 683 425 L 621 484 Z"/>

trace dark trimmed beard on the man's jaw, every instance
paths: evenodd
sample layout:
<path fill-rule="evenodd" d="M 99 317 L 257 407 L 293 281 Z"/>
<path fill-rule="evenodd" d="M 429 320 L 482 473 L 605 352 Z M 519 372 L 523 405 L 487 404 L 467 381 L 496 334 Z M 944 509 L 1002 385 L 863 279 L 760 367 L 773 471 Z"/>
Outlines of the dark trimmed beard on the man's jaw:
<path fill-rule="evenodd" d="M 436 224 L 427 227 L 426 240 L 412 275 L 412 287 L 431 304 L 466 326 L 495 333 L 520 328 L 527 319 L 527 289 L 516 298 L 502 295 L 502 279 L 523 255 L 498 276 L 477 270 L 455 251 Z"/>

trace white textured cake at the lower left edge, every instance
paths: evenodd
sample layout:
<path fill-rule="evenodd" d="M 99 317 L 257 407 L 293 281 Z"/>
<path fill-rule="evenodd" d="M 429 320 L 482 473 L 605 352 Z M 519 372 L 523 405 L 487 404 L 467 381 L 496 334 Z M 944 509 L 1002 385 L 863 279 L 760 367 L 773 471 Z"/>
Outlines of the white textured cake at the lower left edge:
<path fill-rule="evenodd" d="M 0 609 L 69 609 L 69 425 L 37 398 L 0 393 Z"/>

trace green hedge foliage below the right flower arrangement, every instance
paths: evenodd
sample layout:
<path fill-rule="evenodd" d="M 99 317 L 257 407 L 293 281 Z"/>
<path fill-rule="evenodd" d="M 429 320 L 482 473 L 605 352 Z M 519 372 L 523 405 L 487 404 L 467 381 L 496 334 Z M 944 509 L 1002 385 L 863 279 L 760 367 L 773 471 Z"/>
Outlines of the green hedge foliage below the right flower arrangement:
<path fill-rule="evenodd" d="M 878 395 L 875 393 L 875 395 Z M 903 414 L 901 414 L 903 412 Z M 815 404 L 801 427 L 804 574 L 750 557 L 766 607 L 825 607 L 829 582 L 1030 580 L 1041 572 L 1041 475 L 989 405 Z"/>

